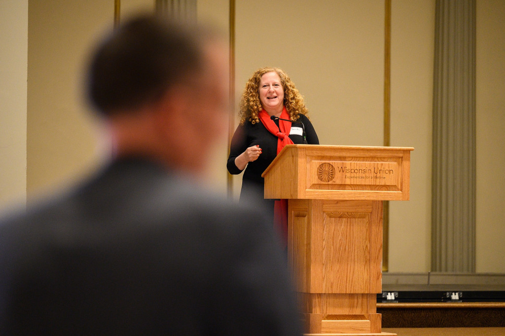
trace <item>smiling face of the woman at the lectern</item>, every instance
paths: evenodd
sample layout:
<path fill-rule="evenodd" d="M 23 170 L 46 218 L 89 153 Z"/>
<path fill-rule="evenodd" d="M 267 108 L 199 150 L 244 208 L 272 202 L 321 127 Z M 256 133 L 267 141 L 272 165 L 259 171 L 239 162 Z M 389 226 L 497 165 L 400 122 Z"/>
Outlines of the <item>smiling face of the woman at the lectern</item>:
<path fill-rule="evenodd" d="M 261 76 L 258 89 L 263 109 L 271 116 L 282 112 L 284 106 L 284 90 L 279 75 L 272 71 Z"/>

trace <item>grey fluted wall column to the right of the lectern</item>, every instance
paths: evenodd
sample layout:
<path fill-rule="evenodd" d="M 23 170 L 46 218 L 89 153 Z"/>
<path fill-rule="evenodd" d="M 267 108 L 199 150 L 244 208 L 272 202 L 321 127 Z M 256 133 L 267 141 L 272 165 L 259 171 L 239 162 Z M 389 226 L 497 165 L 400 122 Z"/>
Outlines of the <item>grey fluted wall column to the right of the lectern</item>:
<path fill-rule="evenodd" d="M 475 0 L 437 0 L 433 82 L 432 257 L 475 272 Z"/>

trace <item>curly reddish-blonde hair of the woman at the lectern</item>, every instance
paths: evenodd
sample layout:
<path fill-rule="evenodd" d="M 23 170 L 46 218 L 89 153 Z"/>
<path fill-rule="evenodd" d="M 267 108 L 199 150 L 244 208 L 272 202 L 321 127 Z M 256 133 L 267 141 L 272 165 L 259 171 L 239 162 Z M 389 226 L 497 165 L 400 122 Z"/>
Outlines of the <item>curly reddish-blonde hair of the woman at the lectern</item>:
<path fill-rule="evenodd" d="M 307 115 L 309 111 L 304 103 L 304 98 L 300 92 L 294 87 L 294 83 L 289 79 L 289 76 L 279 68 L 261 68 L 255 71 L 245 84 L 244 92 L 240 98 L 240 110 L 238 116 L 240 117 L 240 124 L 243 125 L 245 121 L 250 121 L 252 124 L 260 122 L 258 113 L 263 110 L 260 101 L 259 87 L 261 77 L 268 73 L 275 72 L 281 79 L 282 89 L 284 90 L 284 106 L 289 113 L 290 120 L 298 120 L 300 114 Z"/>

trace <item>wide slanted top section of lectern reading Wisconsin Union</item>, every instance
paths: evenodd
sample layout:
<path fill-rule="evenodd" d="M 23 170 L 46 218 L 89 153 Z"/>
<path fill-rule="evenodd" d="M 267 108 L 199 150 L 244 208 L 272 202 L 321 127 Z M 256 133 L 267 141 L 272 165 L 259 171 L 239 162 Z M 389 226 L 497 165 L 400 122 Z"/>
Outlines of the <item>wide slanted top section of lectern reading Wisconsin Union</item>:
<path fill-rule="evenodd" d="M 265 198 L 407 201 L 412 150 L 287 145 L 262 174 Z"/>

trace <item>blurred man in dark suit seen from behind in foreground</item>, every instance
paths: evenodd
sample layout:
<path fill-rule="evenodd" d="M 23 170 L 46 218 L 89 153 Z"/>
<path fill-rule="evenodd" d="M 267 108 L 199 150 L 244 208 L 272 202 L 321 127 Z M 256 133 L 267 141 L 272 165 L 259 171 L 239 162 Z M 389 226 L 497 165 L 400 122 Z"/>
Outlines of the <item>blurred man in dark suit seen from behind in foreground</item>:
<path fill-rule="evenodd" d="M 227 120 L 215 34 L 139 16 L 91 57 L 114 158 L 0 220 L 0 334 L 295 335 L 282 253 L 258 209 L 191 180 Z"/>

